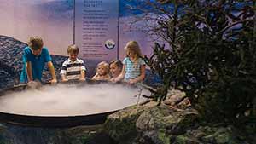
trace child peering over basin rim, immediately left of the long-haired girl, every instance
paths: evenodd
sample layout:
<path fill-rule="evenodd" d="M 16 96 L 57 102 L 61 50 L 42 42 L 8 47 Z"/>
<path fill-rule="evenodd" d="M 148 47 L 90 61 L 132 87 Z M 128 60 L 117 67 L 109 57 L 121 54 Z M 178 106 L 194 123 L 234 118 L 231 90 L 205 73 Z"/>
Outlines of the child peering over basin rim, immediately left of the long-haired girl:
<path fill-rule="evenodd" d="M 123 63 L 120 60 L 113 60 L 109 63 L 109 67 L 112 81 L 114 78 L 117 78 L 119 74 L 122 72 Z"/>

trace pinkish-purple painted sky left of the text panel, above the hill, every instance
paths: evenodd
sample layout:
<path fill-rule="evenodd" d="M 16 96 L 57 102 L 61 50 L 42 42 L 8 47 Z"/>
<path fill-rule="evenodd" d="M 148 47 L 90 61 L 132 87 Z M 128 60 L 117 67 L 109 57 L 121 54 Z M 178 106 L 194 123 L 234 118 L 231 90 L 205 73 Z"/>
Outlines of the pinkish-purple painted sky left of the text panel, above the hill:
<path fill-rule="evenodd" d="M 55 9 L 61 7 L 63 3 L 50 0 L 4 1 L 0 3 L 0 34 L 25 43 L 29 37 L 39 36 L 51 54 L 67 55 L 67 45 L 73 43 L 73 10 L 56 14 Z"/>

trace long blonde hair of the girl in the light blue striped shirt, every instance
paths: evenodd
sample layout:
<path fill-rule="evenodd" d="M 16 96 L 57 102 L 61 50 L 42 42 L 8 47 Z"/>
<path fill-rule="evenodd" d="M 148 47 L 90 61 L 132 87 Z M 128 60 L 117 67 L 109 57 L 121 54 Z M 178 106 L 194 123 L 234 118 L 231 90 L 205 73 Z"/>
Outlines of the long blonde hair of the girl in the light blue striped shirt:
<path fill-rule="evenodd" d="M 135 59 L 136 60 L 138 58 L 143 58 L 140 46 L 136 41 L 129 41 L 128 43 L 126 43 L 125 51 L 126 51 L 126 57 L 128 57 L 127 51 L 133 51 L 135 53 L 135 56 L 136 56 Z"/>

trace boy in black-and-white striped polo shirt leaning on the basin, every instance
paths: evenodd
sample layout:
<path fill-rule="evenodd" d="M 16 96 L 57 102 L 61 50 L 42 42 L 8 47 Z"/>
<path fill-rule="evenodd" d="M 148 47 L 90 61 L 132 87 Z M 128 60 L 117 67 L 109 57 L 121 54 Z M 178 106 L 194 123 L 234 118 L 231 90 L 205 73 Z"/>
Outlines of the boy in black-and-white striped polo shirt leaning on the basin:
<path fill-rule="evenodd" d="M 74 44 L 68 46 L 67 54 L 69 55 L 69 58 L 63 62 L 61 68 L 61 82 L 67 82 L 71 79 L 84 81 L 86 68 L 84 66 L 84 61 L 78 58 L 79 47 Z"/>

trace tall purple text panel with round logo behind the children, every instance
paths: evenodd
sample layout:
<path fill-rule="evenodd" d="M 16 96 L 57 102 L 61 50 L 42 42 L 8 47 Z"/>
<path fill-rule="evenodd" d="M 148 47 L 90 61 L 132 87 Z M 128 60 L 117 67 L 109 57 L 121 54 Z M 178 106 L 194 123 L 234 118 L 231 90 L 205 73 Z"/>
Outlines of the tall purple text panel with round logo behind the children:
<path fill-rule="evenodd" d="M 74 42 L 85 60 L 113 60 L 118 53 L 119 0 L 75 0 Z"/>

